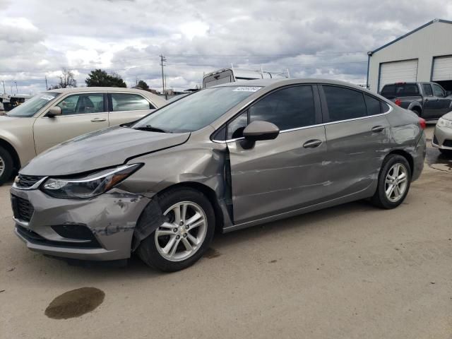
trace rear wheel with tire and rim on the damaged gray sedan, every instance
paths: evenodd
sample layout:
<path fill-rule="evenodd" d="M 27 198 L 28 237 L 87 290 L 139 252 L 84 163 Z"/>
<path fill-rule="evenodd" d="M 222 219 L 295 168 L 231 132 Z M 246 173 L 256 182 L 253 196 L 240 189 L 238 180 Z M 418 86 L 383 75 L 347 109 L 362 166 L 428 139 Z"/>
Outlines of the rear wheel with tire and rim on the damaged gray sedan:
<path fill-rule="evenodd" d="M 396 208 L 403 203 L 411 184 L 408 160 L 398 154 L 388 155 L 380 169 L 379 183 L 371 203 L 379 208 Z"/>

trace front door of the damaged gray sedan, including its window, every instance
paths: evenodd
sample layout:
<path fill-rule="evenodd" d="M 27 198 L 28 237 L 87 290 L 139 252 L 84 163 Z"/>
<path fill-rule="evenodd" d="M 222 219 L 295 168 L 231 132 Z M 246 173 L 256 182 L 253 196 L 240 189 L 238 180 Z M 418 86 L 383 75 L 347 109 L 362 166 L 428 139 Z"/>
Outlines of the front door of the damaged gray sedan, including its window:
<path fill-rule="evenodd" d="M 242 131 L 255 120 L 272 122 L 280 134 L 244 149 Z M 298 85 L 266 95 L 227 125 L 236 225 L 321 201 L 326 136 L 320 123 L 317 87 Z"/>

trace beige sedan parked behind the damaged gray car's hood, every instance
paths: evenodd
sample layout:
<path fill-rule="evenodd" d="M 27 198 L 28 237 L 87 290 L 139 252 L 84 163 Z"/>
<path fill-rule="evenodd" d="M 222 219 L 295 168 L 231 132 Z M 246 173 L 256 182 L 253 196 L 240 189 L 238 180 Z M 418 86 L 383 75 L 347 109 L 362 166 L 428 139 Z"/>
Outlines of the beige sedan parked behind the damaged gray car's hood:
<path fill-rule="evenodd" d="M 0 117 L 0 184 L 54 145 L 135 121 L 166 103 L 134 88 L 64 88 L 35 95 Z"/>

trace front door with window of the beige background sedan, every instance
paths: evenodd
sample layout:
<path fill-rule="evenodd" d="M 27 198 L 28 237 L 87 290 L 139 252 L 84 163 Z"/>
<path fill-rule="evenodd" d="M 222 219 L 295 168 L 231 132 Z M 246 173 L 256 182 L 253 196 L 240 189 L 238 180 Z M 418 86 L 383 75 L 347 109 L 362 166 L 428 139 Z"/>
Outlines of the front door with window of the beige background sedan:
<path fill-rule="evenodd" d="M 67 95 L 57 104 L 61 108 L 60 116 L 37 118 L 33 125 L 36 153 L 81 134 L 108 127 L 105 97 L 103 93 Z"/>

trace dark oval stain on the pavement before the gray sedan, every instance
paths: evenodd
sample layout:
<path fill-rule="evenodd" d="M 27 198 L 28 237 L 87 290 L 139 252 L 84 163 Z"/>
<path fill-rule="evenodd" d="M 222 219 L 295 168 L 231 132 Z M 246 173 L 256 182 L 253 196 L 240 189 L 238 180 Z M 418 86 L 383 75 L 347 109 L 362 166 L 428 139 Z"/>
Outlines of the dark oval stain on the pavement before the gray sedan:
<path fill-rule="evenodd" d="M 69 319 L 83 316 L 104 301 L 105 293 L 95 287 L 82 287 L 59 295 L 45 309 L 51 319 Z"/>

